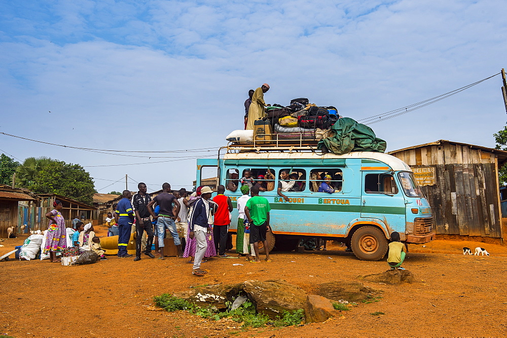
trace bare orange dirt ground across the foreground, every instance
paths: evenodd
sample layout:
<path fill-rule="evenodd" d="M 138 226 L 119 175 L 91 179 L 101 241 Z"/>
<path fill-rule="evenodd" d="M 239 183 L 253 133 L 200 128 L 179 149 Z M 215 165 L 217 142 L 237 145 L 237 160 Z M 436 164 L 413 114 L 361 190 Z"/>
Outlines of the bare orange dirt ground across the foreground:
<path fill-rule="evenodd" d="M 97 229 L 96 229 L 97 230 Z M 26 236 L 6 239 L 0 254 Z M 328 281 L 387 270 L 385 261 L 360 261 L 338 245 L 328 251 L 273 252 L 270 263 L 215 258 L 191 275 L 186 259 L 146 256 L 63 267 L 48 260 L 0 262 L 0 334 L 11 336 L 505 336 L 507 248 L 496 244 L 436 240 L 410 245 L 404 267 L 414 284 L 389 286 L 380 302 L 358 304 L 325 323 L 242 331 L 231 322 L 186 312 L 152 311 L 152 297 L 192 285 L 284 279 L 312 292 Z M 486 248 L 490 256 L 463 256 L 461 248 Z M 14 258 L 14 256 L 11 256 Z M 294 261 L 294 262 L 293 262 Z M 233 266 L 241 263 L 243 266 Z M 383 312 L 384 315 L 372 315 Z"/>

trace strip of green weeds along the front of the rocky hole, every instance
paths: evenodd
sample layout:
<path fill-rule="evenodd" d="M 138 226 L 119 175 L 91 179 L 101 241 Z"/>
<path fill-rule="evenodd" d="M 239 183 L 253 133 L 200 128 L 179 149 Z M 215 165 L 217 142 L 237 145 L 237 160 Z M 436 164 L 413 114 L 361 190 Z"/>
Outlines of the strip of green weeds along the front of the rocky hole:
<path fill-rule="evenodd" d="M 201 307 L 168 293 L 156 296 L 154 300 L 158 307 L 163 308 L 167 312 L 188 311 L 203 318 L 211 318 L 214 320 L 228 318 L 238 323 L 243 323 L 242 327 L 263 327 L 266 325 L 284 327 L 298 325 L 304 317 L 303 309 L 299 309 L 293 312 L 283 311 L 281 316 L 270 319 L 267 315 L 256 313 L 255 306 L 249 301 L 246 301 L 241 304 L 239 308 L 234 310 L 231 310 L 232 303 L 226 302 L 227 309 L 225 311 L 218 311 L 211 306 Z"/>

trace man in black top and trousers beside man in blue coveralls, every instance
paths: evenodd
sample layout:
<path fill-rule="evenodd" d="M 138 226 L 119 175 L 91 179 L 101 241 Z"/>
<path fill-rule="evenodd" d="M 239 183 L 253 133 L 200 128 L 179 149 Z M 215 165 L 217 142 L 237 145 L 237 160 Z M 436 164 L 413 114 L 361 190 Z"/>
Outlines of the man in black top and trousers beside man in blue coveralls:
<path fill-rule="evenodd" d="M 152 253 L 152 242 L 153 242 L 153 226 L 152 220 L 150 219 L 150 211 L 148 211 L 147 205 L 150 203 L 152 198 L 146 193 L 146 184 L 140 182 L 137 184 L 139 191 L 132 197 L 132 209 L 135 213 L 135 258 L 134 261 L 141 260 L 141 240 L 142 234 L 146 231 L 148 240 L 146 241 L 146 250 L 144 254 L 148 257 L 155 258 Z"/>

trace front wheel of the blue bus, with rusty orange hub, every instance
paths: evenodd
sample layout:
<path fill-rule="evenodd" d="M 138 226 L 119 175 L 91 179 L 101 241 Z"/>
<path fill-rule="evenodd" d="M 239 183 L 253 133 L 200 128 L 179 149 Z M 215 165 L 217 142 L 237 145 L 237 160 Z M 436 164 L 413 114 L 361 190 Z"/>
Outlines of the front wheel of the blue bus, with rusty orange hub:
<path fill-rule="evenodd" d="M 376 227 L 357 229 L 350 242 L 354 255 L 361 260 L 380 260 L 387 252 L 387 239 Z"/>

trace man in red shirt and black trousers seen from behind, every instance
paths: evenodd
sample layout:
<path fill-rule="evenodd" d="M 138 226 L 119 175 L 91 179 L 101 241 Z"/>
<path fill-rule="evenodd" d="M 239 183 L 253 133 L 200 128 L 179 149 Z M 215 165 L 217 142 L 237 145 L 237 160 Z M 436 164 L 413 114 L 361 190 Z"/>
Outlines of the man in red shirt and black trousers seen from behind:
<path fill-rule="evenodd" d="M 232 201 L 229 197 L 225 196 L 225 186 L 219 185 L 216 188 L 216 195 L 213 202 L 218 205 L 213 217 L 213 239 L 215 241 L 215 248 L 218 249 L 220 257 L 227 257 L 225 254 L 227 244 L 227 233 L 229 231 L 229 224 L 231 223 Z"/>

